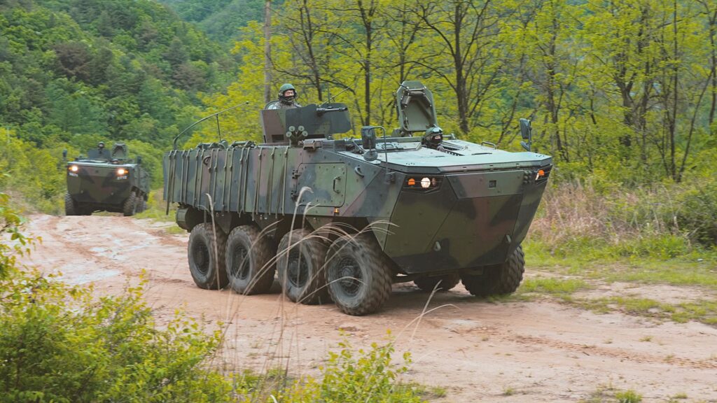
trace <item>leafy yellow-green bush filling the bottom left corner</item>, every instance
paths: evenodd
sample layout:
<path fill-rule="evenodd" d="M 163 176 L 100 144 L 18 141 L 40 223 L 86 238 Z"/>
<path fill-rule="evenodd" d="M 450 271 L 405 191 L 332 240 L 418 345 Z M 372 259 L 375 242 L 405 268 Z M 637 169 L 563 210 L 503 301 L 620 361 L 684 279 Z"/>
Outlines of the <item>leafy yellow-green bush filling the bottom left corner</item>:
<path fill-rule="evenodd" d="M 228 402 L 219 345 L 181 314 L 158 330 L 142 287 L 92 298 L 37 271 L 0 284 L 0 401 Z"/>

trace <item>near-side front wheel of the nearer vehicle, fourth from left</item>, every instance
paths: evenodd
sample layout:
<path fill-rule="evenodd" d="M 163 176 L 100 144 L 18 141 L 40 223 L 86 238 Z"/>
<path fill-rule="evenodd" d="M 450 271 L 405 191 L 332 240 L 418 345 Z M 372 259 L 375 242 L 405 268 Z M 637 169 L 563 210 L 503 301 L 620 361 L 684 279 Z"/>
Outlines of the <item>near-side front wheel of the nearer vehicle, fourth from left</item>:
<path fill-rule="evenodd" d="M 366 315 L 391 296 L 389 262 L 371 234 L 341 237 L 328 250 L 326 283 L 338 309 Z"/>

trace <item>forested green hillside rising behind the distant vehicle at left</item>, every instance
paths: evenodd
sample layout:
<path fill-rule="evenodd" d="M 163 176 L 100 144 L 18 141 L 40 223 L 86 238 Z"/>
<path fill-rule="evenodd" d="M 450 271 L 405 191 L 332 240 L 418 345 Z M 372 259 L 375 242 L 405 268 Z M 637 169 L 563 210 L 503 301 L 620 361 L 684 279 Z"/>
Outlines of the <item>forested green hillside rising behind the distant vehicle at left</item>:
<path fill-rule="evenodd" d="M 173 11 L 153 1 L 9 1 L 0 5 L 0 187 L 39 207 L 64 192 L 60 151 L 100 139 L 158 158 L 221 90 L 234 62 Z"/>

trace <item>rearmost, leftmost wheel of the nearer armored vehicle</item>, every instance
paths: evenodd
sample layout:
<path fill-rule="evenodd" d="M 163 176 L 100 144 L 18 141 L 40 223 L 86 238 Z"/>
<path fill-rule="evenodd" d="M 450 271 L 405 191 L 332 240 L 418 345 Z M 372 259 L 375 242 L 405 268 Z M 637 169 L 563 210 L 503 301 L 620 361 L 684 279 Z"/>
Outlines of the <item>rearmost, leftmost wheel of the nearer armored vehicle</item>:
<path fill-rule="evenodd" d="M 227 235 L 219 227 L 216 237 L 214 234 L 212 224 L 198 224 L 189 234 L 187 247 L 191 278 L 199 288 L 206 290 L 222 289 L 227 285 L 227 270 L 224 269 Z"/>

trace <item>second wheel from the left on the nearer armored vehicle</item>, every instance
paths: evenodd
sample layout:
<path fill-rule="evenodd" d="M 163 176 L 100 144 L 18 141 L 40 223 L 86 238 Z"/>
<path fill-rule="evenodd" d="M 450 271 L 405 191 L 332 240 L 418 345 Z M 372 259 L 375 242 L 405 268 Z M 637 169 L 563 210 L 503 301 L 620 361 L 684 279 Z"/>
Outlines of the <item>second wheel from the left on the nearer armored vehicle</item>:
<path fill-rule="evenodd" d="M 274 283 L 274 242 L 257 227 L 242 225 L 227 237 L 227 278 L 239 294 L 266 293 Z"/>

